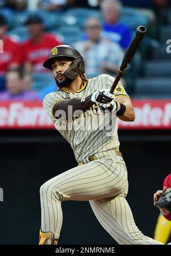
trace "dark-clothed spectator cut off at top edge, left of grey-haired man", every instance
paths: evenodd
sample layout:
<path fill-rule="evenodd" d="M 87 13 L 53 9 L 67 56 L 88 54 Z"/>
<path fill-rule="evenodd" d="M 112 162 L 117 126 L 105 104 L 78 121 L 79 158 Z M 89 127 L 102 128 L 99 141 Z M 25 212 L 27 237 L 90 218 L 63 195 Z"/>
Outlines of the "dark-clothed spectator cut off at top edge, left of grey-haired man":
<path fill-rule="evenodd" d="M 101 0 L 67 0 L 68 7 L 99 8 Z"/>

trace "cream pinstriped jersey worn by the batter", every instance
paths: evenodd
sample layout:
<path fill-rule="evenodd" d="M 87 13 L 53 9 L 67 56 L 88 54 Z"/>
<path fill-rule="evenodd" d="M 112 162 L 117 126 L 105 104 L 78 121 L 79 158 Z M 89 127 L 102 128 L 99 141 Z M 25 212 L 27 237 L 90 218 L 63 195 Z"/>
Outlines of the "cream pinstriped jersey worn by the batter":
<path fill-rule="evenodd" d="M 110 75 L 99 75 L 97 78 L 89 79 L 88 83 L 80 91 L 75 92 L 75 94 L 60 90 L 58 92 L 51 92 L 44 97 L 44 109 L 55 123 L 55 128 L 70 143 L 78 163 L 96 153 L 105 152 L 110 149 L 119 149 L 116 111 L 112 111 L 112 113 L 107 115 L 104 115 L 104 113 L 99 114 L 99 106 L 94 104 L 86 114 L 80 115 L 69 124 L 55 119 L 52 114 L 52 108 L 60 100 L 88 96 L 102 88 L 110 89 L 114 80 L 115 78 Z M 121 83 L 115 89 L 115 96 L 129 97 Z"/>

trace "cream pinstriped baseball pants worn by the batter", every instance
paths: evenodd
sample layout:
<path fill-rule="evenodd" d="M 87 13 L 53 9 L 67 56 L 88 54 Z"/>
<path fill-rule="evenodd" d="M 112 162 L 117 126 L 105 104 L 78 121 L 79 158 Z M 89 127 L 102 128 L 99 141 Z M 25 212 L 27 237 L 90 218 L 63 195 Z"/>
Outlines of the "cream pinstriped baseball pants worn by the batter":
<path fill-rule="evenodd" d="M 125 199 L 127 168 L 123 159 L 111 156 L 111 152 L 103 154 L 101 159 L 67 170 L 41 186 L 43 232 L 51 232 L 59 238 L 63 201 L 89 201 L 97 220 L 120 245 L 160 244 L 137 228 Z"/>

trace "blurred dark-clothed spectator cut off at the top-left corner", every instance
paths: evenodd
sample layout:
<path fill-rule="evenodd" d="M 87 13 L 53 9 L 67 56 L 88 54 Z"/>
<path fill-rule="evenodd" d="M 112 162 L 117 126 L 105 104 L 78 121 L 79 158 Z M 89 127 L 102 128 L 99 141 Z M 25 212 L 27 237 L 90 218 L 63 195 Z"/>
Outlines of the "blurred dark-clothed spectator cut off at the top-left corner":
<path fill-rule="evenodd" d="M 3 7 L 7 7 L 11 10 L 23 11 L 27 9 L 27 0 L 6 0 L 2 2 L 3 2 Z"/>

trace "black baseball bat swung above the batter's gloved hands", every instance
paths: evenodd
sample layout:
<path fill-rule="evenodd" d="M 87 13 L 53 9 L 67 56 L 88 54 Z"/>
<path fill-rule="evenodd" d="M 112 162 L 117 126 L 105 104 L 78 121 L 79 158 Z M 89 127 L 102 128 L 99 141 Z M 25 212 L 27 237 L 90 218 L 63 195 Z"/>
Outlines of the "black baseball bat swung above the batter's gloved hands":
<path fill-rule="evenodd" d="M 120 69 L 117 72 L 115 81 L 112 84 L 111 87 L 111 94 L 114 92 L 117 84 L 119 83 L 119 80 L 121 79 L 121 76 L 124 74 L 125 70 L 127 70 L 127 67 L 129 66 L 129 63 L 131 62 L 133 56 L 135 55 L 137 49 L 140 46 L 140 43 L 143 41 L 143 38 L 146 34 L 146 27 L 139 26 L 136 29 L 135 34 L 133 35 L 133 38 L 131 40 L 131 43 L 128 46 L 127 51 L 125 52 L 123 62 L 121 63 Z"/>

